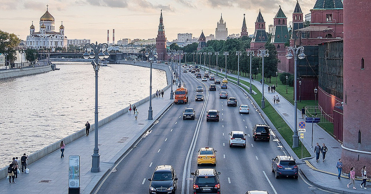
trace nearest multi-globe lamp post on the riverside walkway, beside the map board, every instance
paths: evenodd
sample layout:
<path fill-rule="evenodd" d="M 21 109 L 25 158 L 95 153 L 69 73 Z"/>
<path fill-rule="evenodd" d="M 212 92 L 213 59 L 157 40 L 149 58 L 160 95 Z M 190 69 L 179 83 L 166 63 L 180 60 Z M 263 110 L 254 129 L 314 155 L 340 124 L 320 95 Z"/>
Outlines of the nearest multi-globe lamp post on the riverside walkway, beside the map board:
<path fill-rule="evenodd" d="M 91 47 L 91 52 L 88 53 L 86 50 L 86 47 Z M 99 65 L 101 59 L 108 58 L 109 53 L 107 52 L 108 44 L 98 44 L 98 42 L 92 43 L 92 44 L 85 44 L 85 53 L 83 54 L 83 57 L 85 59 L 91 58 L 94 59 L 92 61 L 92 65 L 95 71 L 95 120 L 94 120 L 94 150 L 92 154 L 92 173 L 99 173 L 101 171 L 101 167 L 99 167 L 100 163 L 100 157 L 99 154 L 99 148 L 98 148 L 98 71 L 99 71 Z M 103 53 L 103 50 L 105 49 L 105 52 Z M 45 59 L 44 59 L 45 60 Z"/>

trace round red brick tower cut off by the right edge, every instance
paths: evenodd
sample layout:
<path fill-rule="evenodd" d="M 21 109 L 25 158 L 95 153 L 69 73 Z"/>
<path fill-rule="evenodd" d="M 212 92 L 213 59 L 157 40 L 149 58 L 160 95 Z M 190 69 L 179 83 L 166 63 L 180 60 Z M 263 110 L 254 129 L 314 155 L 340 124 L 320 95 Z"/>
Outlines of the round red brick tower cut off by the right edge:
<path fill-rule="evenodd" d="M 336 2 L 336 1 L 335 1 Z M 341 2 L 340 2 L 341 3 Z M 343 171 L 354 166 L 359 176 L 363 165 L 371 169 L 371 36 L 369 0 L 344 1 L 344 132 Z M 364 37 L 364 38 L 361 38 Z M 370 178 L 370 173 L 368 178 Z"/>

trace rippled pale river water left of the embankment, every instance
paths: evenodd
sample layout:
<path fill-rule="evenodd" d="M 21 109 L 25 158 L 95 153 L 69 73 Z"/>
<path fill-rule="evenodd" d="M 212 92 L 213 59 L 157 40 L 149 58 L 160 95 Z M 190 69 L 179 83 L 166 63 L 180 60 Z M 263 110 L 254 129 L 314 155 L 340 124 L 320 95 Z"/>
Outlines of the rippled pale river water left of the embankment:
<path fill-rule="evenodd" d="M 94 123 L 95 73 L 90 63 L 0 81 L 0 168 Z M 99 120 L 149 96 L 150 69 L 110 64 L 99 70 Z M 152 91 L 167 85 L 152 69 Z"/>

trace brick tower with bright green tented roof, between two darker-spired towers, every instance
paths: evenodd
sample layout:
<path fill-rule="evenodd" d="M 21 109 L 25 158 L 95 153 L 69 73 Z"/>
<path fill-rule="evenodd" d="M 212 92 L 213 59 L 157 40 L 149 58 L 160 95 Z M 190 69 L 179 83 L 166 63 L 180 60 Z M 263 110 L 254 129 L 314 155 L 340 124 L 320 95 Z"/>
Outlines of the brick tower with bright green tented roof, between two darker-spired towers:
<path fill-rule="evenodd" d="M 287 17 L 283 13 L 281 6 L 273 19 L 272 39 L 270 40 L 277 49 L 285 47 L 285 43 L 290 39 L 289 30 L 287 29 Z"/>

